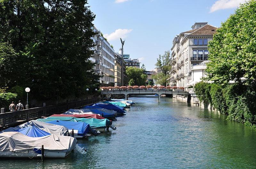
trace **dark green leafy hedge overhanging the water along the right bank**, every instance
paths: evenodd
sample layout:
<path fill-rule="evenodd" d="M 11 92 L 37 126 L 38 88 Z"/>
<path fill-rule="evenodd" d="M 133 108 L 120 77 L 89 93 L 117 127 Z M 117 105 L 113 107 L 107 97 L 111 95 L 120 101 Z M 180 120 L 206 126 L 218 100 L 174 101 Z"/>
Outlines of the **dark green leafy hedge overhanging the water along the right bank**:
<path fill-rule="evenodd" d="M 194 90 L 205 107 L 211 104 L 221 114 L 228 115 L 227 120 L 256 128 L 255 81 L 250 85 L 236 82 L 225 87 L 201 81 L 196 83 Z"/>

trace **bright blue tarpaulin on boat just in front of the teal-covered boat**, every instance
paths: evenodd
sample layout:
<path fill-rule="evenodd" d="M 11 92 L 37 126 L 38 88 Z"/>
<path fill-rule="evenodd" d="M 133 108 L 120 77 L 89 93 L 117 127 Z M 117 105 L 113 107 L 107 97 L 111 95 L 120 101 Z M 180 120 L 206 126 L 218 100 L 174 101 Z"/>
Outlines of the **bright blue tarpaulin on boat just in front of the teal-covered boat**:
<path fill-rule="evenodd" d="M 90 125 L 84 122 L 67 122 L 61 120 L 53 120 L 47 123 L 64 126 L 68 128 L 69 132 L 71 132 L 72 129 L 76 130 L 75 133 L 77 133 L 78 136 L 84 136 L 85 134 L 89 133 L 90 128 Z"/>

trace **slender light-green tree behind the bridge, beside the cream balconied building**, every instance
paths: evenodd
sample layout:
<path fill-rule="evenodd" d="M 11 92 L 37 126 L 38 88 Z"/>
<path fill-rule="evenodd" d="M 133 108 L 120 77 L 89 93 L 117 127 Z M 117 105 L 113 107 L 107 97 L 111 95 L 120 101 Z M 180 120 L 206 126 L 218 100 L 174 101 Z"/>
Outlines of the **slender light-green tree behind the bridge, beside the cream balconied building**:
<path fill-rule="evenodd" d="M 159 55 L 155 66 L 160 69 L 160 73 L 153 75 L 153 79 L 162 86 L 166 86 L 170 82 L 171 71 L 170 51 L 165 51 L 164 55 Z"/>

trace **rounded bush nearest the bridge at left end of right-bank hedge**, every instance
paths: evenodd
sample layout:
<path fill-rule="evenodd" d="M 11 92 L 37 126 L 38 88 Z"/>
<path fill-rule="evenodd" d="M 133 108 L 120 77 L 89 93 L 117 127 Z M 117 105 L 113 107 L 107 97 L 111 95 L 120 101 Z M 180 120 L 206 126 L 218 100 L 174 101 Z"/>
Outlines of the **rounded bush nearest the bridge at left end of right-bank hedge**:
<path fill-rule="evenodd" d="M 211 84 L 200 81 L 196 83 L 194 90 L 200 102 L 204 102 L 204 107 L 208 107 L 212 103 L 210 95 Z"/>

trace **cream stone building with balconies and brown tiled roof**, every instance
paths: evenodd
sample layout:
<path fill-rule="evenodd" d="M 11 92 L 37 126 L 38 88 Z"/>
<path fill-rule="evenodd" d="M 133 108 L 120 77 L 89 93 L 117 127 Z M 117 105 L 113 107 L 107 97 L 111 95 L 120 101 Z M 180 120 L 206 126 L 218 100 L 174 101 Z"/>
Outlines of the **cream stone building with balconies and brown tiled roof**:
<path fill-rule="evenodd" d="M 208 60 L 208 42 L 212 40 L 217 27 L 201 22 L 195 23 L 191 28 L 192 30 L 180 33 L 172 41 L 171 86 L 190 87 L 190 82 L 193 81 L 192 67 Z"/>

